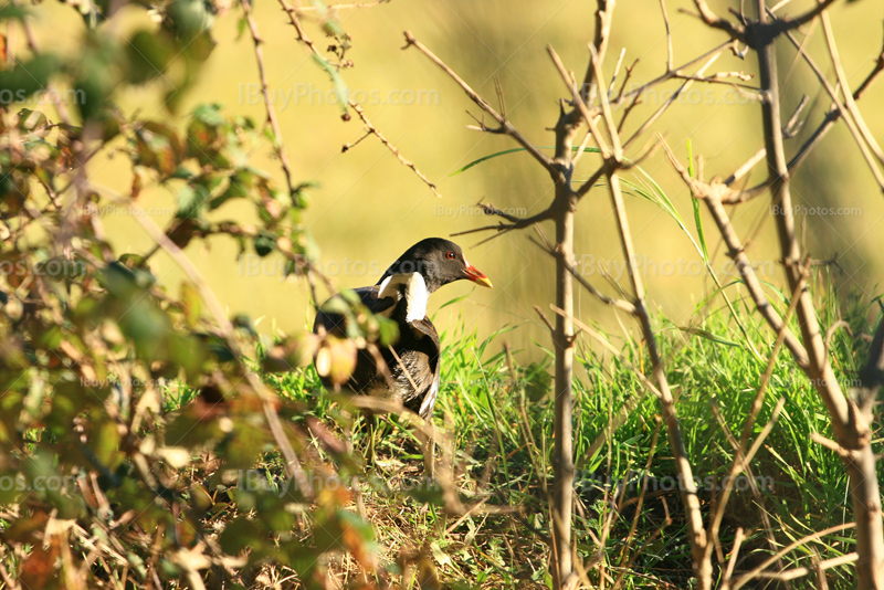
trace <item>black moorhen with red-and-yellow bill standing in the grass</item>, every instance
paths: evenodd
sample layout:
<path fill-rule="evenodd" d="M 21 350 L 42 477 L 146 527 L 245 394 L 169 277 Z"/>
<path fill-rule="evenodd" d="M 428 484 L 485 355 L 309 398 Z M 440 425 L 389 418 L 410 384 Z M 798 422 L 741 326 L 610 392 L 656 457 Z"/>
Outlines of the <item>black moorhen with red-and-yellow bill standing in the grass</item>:
<path fill-rule="evenodd" d="M 356 369 L 346 387 L 356 393 L 398 399 L 429 421 L 439 394 L 440 361 L 439 334 L 427 317 L 427 299 L 442 285 L 462 278 L 491 287 L 488 277 L 466 262 L 457 244 L 428 238 L 399 256 L 376 285 L 354 289 L 373 314 L 382 314 L 398 324 L 399 340 L 380 348 L 391 381 L 372 355 L 359 349 Z M 318 334 L 322 326 L 326 333 L 344 337 L 344 316 L 320 308 L 313 331 Z M 323 378 L 323 384 L 332 389 L 328 379 Z"/>

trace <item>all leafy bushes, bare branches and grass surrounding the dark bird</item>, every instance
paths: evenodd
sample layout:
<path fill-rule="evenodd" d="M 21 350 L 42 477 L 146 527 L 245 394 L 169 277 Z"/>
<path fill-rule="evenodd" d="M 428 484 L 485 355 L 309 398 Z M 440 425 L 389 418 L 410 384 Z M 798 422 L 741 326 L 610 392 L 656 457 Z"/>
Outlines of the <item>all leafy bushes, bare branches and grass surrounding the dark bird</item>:
<path fill-rule="evenodd" d="M 621 144 L 623 120 L 642 93 L 621 87 L 614 102 L 625 112 L 615 125 L 599 57 L 612 4 L 599 2 L 582 87 L 549 49 L 571 91 L 560 103 L 551 157 L 513 126 L 499 85 L 498 113 L 406 32 L 407 46 L 442 67 L 499 125 L 477 118 L 477 130 L 514 138 L 556 185 L 549 208 L 529 218 L 480 206 L 505 220 L 483 228 L 499 234 L 556 221 L 557 245 L 543 231 L 537 241 L 557 265 L 555 328 L 537 308 L 552 347 L 512 349 L 507 339 L 524 326 L 480 338 L 455 315 L 459 301 L 442 306 L 453 328 L 442 334 L 433 434 L 386 400 L 320 387 L 314 356 L 324 377 L 344 383 L 357 348 L 396 338 L 394 326 L 351 293 L 328 309 L 348 316 L 347 338 L 306 329 L 261 335 L 251 317 L 227 313 L 185 253 L 225 241 L 240 253 L 285 261 L 285 275 L 315 305 L 318 293 L 335 289 L 305 226 L 314 185 L 299 182 L 290 166 L 251 2 L 134 2 L 127 10 L 140 20 L 125 34 L 112 25 L 125 2 L 66 3 L 85 31 L 70 54 L 34 35 L 34 8 L 0 9 L 8 33 L 0 62 L 0 588 L 738 588 L 789 577 L 794 587 L 852 588 L 857 578 L 863 588 L 875 584 L 882 568 L 873 561 L 884 548 L 875 533 L 881 474 L 873 452 L 881 440 L 875 359 L 884 350 L 878 298 L 839 292 L 836 266 L 810 264 L 788 207 L 774 214 L 783 238 L 774 257 L 786 262 L 789 289 L 761 284 L 744 264 L 746 249 L 728 231 L 723 208 L 768 189 L 787 202 L 783 179 L 817 138 L 840 117 L 862 124 L 853 101 L 848 117 L 832 91 L 836 106 L 782 169 L 781 135 L 792 123 L 782 129 L 771 123 L 780 115 L 774 92 L 764 104 L 765 137 L 769 170 L 780 173 L 757 190 L 704 181 L 693 155 L 685 169 L 660 140 L 691 189 L 694 239 L 639 167 L 655 144 L 634 158 L 623 154 L 656 115 Z M 750 29 L 765 23 L 764 14 L 758 23 L 732 23 L 714 18 L 705 2 L 695 4 L 706 24 L 729 38 L 707 55 L 736 50 L 738 41 L 760 50 L 762 83 L 774 91 L 768 50 L 777 36 L 817 19 L 831 36 L 832 1 L 799 20 L 776 20 L 761 36 Z M 333 116 L 361 122 L 364 138 L 373 136 L 435 192 L 350 95 L 344 73 L 352 66 L 352 39 L 336 11 L 322 2 L 280 6 L 297 43 L 328 76 Z M 162 93 L 166 114 L 176 113 L 203 74 L 217 18 L 232 8 L 241 34 L 251 38 L 265 122 L 211 102 L 180 126 L 118 106 L 122 92 L 150 87 Z M 18 42 L 9 41 L 13 31 Z M 328 41 L 325 51 L 314 38 Z M 704 78 L 705 66 L 696 75 L 676 72 L 671 39 L 669 45 L 667 72 L 657 80 L 677 81 L 678 92 L 693 82 L 744 80 L 726 72 Z M 831 40 L 830 46 L 838 69 Z M 882 71 L 884 56 L 857 93 Z M 49 104 L 29 108 L 34 96 Z M 607 139 L 597 126 L 602 120 Z M 591 131 L 577 147 L 583 124 Z M 875 148 L 861 127 L 856 140 Z M 282 181 L 254 164 L 262 151 L 278 164 Z M 459 171 L 515 151 L 485 155 Z M 98 155 L 125 162 L 125 190 L 95 180 Z M 573 161 L 583 155 L 601 165 L 571 188 Z M 631 192 L 621 190 L 621 176 Z M 573 213 L 598 186 L 610 191 L 630 267 L 630 288 L 612 282 L 622 298 L 602 295 L 572 266 Z M 175 196 L 162 229 L 144 210 L 150 190 Z M 712 274 L 716 291 L 687 324 L 649 310 L 624 194 L 674 218 Z M 699 202 L 737 262 L 734 283 L 712 272 Z M 107 238 L 103 211 L 114 208 L 144 229 L 149 249 L 120 250 Z M 170 285 L 158 275 L 159 252 L 183 281 Z M 629 328 L 613 336 L 573 317 L 573 282 L 632 315 L 641 336 Z M 807 327 L 817 319 L 820 334 Z M 362 455 L 366 409 L 383 413 L 372 464 Z M 427 434 L 435 436 L 434 478 L 421 467 L 433 452 Z M 737 467 L 740 475 L 729 481 Z M 874 476 L 862 485 L 863 474 Z M 733 489 L 729 502 L 722 499 L 725 489 Z M 720 528 L 706 529 L 719 507 Z"/>

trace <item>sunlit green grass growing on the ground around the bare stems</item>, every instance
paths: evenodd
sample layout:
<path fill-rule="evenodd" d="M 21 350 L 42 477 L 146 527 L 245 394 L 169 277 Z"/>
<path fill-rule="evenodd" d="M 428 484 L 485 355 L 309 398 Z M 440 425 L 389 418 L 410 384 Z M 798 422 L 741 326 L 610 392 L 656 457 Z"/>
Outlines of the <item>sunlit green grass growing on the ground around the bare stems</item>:
<path fill-rule="evenodd" d="M 828 294 L 819 304 L 823 330 L 839 319 L 851 326 L 852 336 L 839 329 L 831 339 L 835 371 L 849 382 L 865 358 L 867 341 L 861 335 L 872 334 L 869 320 L 878 318 L 877 306 L 854 294 L 839 299 L 824 275 L 819 283 L 818 291 Z M 715 495 L 709 484 L 727 474 L 734 457 L 723 424 L 739 438 L 775 339 L 738 293 L 732 288 L 729 295 L 743 327 L 725 306 L 698 312 L 690 330 L 664 317 L 655 318 L 688 456 L 704 484 L 699 498 L 707 518 Z M 780 297 L 777 303 L 785 314 L 788 302 Z M 441 335 L 443 384 L 435 413 L 436 428 L 453 441 L 453 483 L 467 504 L 485 501 L 487 506 L 509 506 L 516 512 L 477 512 L 460 519 L 459 515 L 446 515 L 433 502 L 439 499 L 433 493 L 414 493 L 410 485 L 423 471 L 421 446 L 398 418 L 388 417 L 381 425 L 375 478 L 362 486 L 361 498 L 364 515 L 375 527 L 379 563 L 397 576 L 401 573 L 397 566 L 400 551 L 419 552 L 449 584 L 546 587 L 549 513 L 544 486 L 552 485 L 551 358 L 545 343 L 537 343 L 533 356 L 539 356 L 541 362 L 522 366 L 518 361 L 528 356 L 527 351 L 514 350 L 511 365 L 504 343 L 507 333 L 520 329 L 518 326 L 480 339 L 462 320 L 454 325 Z M 761 359 L 745 345 L 743 329 L 748 329 Z M 648 359 L 635 343 L 613 337 L 611 341 L 622 349 L 622 360 L 602 355 L 587 337 L 578 340 L 573 383 L 577 552 L 583 563 L 603 563 L 607 586 L 622 573 L 623 588 L 688 588 L 691 550 L 677 489 L 666 487 L 675 478 L 675 466 L 665 430 L 661 430 L 650 461 L 652 481 L 642 510 L 635 514 L 639 488 L 634 484 L 641 481 L 649 462 L 660 410 L 656 399 L 644 394 L 628 364 L 648 371 Z M 266 380 L 283 396 L 303 404 L 307 415 L 319 418 L 347 436 L 346 417 L 323 391 L 312 367 L 266 376 Z M 181 396 L 187 398 L 186 392 Z M 590 456 L 590 446 L 606 432 L 612 417 L 636 397 L 640 401 L 613 432 L 610 443 Z M 776 550 L 815 530 L 852 520 L 841 461 L 810 441 L 813 432 L 831 435 L 825 408 L 785 349 L 777 359 L 753 440 L 780 398 L 785 399 L 782 412 L 751 465 L 760 491 L 754 494 L 746 488 L 747 481 L 741 481 L 725 513 L 720 531 L 725 558 L 737 527 L 747 535 L 737 571 L 762 561 L 772 547 Z M 357 451 L 365 449 L 365 429 L 356 428 L 352 444 Z M 282 464 L 267 459 L 264 467 L 269 474 L 281 476 Z M 620 509 L 613 514 L 612 488 L 604 485 L 606 481 L 633 483 L 617 497 Z M 772 529 L 770 535 L 762 525 L 762 514 Z M 636 529 L 628 545 L 633 518 Z M 608 519 L 610 533 L 599 552 L 598 540 Z M 852 551 L 853 545 L 850 530 L 828 536 L 790 552 L 782 566 L 809 566 L 814 554 L 821 559 L 832 558 Z M 624 569 L 627 566 L 629 569 Z M 333 570 L 343 579 L 348 567 L 343 560 Z M 283 579 L 291 573 L 284 567 L 270 568 L 266 576 Z M 599 576 L 599 568 L 589 572 L 593 583 Z M 831 588 L 851 588 L 852 568 L 829 570 L 828 581 Z M 295 583 L 291 577 L 290 583 Z M 404 580 L 403 587 L 408 583 Z M 799 579 L 792 587 L 815 588 L 815 580 Z"/>

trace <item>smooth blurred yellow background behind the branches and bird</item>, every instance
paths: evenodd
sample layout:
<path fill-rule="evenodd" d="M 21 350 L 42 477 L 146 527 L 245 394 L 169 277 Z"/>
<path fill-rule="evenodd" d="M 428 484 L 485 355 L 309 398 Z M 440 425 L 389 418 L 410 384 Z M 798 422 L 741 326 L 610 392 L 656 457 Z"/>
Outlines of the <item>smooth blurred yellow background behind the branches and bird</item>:
<path fill-rule="evenodd" d="M 722 34 L 711 32 L 694 17 L 681 11 L 692 6 L 688 0 L 667 4 L 676 66 L 724 41 Z M 719 13 L 737 8 L 736 2 L 724 1 L 711 6 Z M 810 0 L 793 0 L 779 13 L 796 14 L 812 6 Z M 451 176 L 475 159 L 516 145 L 507 137 L 467 130 L 465 126 L 474 123 L 467 110 L 480 116 L 478 108 L 421 53 L 413 49 L 402 51 L 402 32 L 411 30 L 495 106 L 494 77 L 497 77 L 513 124 L 535 145 L 551 146 L 554 138 L 548 128 L 556 122 L 558 99 L 566 95 L 566 89 L 545 48 L 552 45 L 566 66 L 582 77 L 594 9 L 596 2 L 588 0 L 397 0 L 372 8 L 338 10 L 343 29 L 352 38 L 354 46 L 347 57 L 354 61 L 354 67 L 341 72 L 352 98 L 364 105 L 372 124 L 402 156 L 436 183 L 441 194 L 436 197 L 376 137 L 367 137 L 341 152 L 345 144 L 352 144 L 365 135 L 364 125 L 355 114 L 349 122 L 341 120 L 328 74 L 295 41 L 294 30 L 278 3 L 255 2 L 255 17 L 265 41 L 271 92 L 294 180 L 318 185 L 308 191 L 306 221 L 320 251 L 322 267 L 338 287 L 373 284 L 399 254 L 422 238 L 449 236 L 494 223 L 495 220 L 483 218 L 474 207 L 478 201 L 529 215 L 546 208 L 552 197 L 549 178 L 524 152 L 495 158 Z M 67 45 L 73 48 L 85 30 L 83 21 L 69 6 L 45 2 L 34 7 L 33 12 L 38 17 L 39 38 L 53 40 L 51 49 L 55 51 L 63 52 Z M 846 74 L 855 88 L 881 53 L 884 6 L 872 0 L 838 3 L 830 12 Z M 248 31 L 241 33 L 238 28 L 240 17 L 239 4 L 231 4 L 225 14 L 219 14 L 213 36 L 220 43 L 209 57 L 200 81 L 175 113 L 164 104 L 159 87 L 156 92 L 124 91 L 124 110 L 130 113 L 137 108 L 140 117 L 169 120 L 183 128 L 187 113 L 196 104 L 217 102 L 262 123 L 265 110 L 255 55 Z M 145 27 L 146 19 L 143 10 L 125 8 L 103 27 L 128 35 Z M 327 43 L 322 32 L 315 27 L 309 32 L 324 50 Z M 812 33 L 807 50 L 829 78 L 834 80 L 822 31 L 817 29 Z M 636 60 L 629 87 L 665 71 L 666 41 L 657 0 L 618 3 L 604 64 L 609 77 L 622 48 L 627 48 L 627 52 L 618 87 L 625 66 Z M 781 75 L 791 70 L 783 87 L 783 118 L 789 117 L 802 94 L 810 97 L 804 110 L 808 123 L 787 144 L 791 156 L 817 127 L 830 101 L 824 91 L 820 92 L 807 65 L 799 62 L 790 69 L 794 56 L 792 48 L 780 45 L 779 49 Z M 751 55 L 743 61 L 728 52 L 707 73 L 736 71 L 755 74 Z M 748 84 L 757 85 L 757 80 Z M 643 105 L 630 116 L 625 133 L 629 135 L 638 128 L 677 86 L 677 82 L 670 82 L 650 92 Z M 873 86 L 860 102 L 880 143 L 884 143 L 882 104 L 884 83 Z M 619 118 L 620 113 L 615 116 Z M 694 154 L 706 159 L 706 178 L 728 176 L 761 147 L 758 104 L 729 85 L 694 85 L 657 122 L 655 129 L 665 134 L 670 146 L 685 162 L 686 143 L 691 140 Z M 640 147 L 641 143 L 632 155 Z M 256 151 L 254 160 L 259 168 L 274 171 L 277 182 L 284 185 L 278 165 L 272 161 L 269 141 Z M 594 155 L 587 155 L 578 165 L 576 178 L 589 176 L 598 161 Z M 106 154 L 93 160 L 90 170 L 97 182 L 128 193 L 126 182 L 130 177 L 124 168 L 127 166 L 124 156 Z M 644 169 L 695 232 L 690 196 L 663 155 L 655 155 Z M 762 180 L 764 175 L 764 165 L 757 167 L 749 179 L 750 186 Z M 162 226 L 175 213 L 175 196 L 164 189 L 145 192 L 139 200 Z M 793 200 L 802 208 L 799 221 L 808 253 L 814 259 L 838 256 L 842 270 L 833 274 L 843 285 L 842 294 L 857 289 L 873 296 L 884 264 L 881 238 L 884 200 L 842 124 L 829 134 L 801 169 L 793 185 Z M 627 204 L 649 299 L 675 324 L 684 326 L 690 323 L 697 304 L 712 292 L 699 255 L 673 219 L 655 204 L 635 196 L 628 197 Z M 236 207 L 225 207 L 214 213 L 214 219 L 249 214 L 246 207 L 240 210 Z M 758 262 L 762 280 L 781 285 L 772 250 L 774 225 L 768 213 L 767 197 L 733 211 L 736 229 L 744 238 L 761 223 L 750 244 L 750 257 Z M 150 249 L 151 240 L 123 211 L 108 209 L 104 220 L 117 251 L 144 254 Z M 723 256 L 712 221 L 705 215 L 704 223 L 709 252 L 716 254 L 713 265 L 722 281 L 730 283 L 736 278 L 734 268 Z M 548 235 L 554 233 L 550 223 L 546 223 L 544 230 Z M 507 338 L 516 348 L 529 349 L 529 358 L 539 356 L 533 340 L 547 346 L 548 337 L 532 306 L 547 309 L 554 301 L 554 264 L 529 242 L 533 233 L 533 230 L 513 232 L 480 245 L 475 244 L 491 233 L 455 239 L 464 246 L 470 262 L 492 278 L 494 288 L 474 288 L 462 282 L 440 291 L 431 301 L 431 310 L 451 298 L 470 294 L 462 303 L 439 314 L 440 331 L 451 328 L 459 314 L 478 330 L 480 337 L 504 325 L 522 325 Z M 235 244 L 229 239 L 209 243 L 211 247 L 206 249 L 194 242 L 187 253 L 231 314 L 246 313 L 252 318 L 262 318 L 259 329 L 264 333 L 274 327 L 296 330 L 312 324 L 306 284 L 283 281 L 281 259 L 257 259 L 251 250 L 239 257 Z M 614 280 L 621 278 L 625 287 L 619 240 L 603 188 L 591 191 L 580 203 L 576 251 L 585 276 L 602 291 L 614 292 L 601 276 L 603 267 L 609 268 Z M 170 259 L 157 254 L 151 259 L 151 267 L 177 292 L 182 274 Z M 738 287 L 729 288 L 736 292 Z M 585 293 L 577 293 L 583 319 L 599 320 L 611 331 L 620 331 L 610 310 Z"/>

